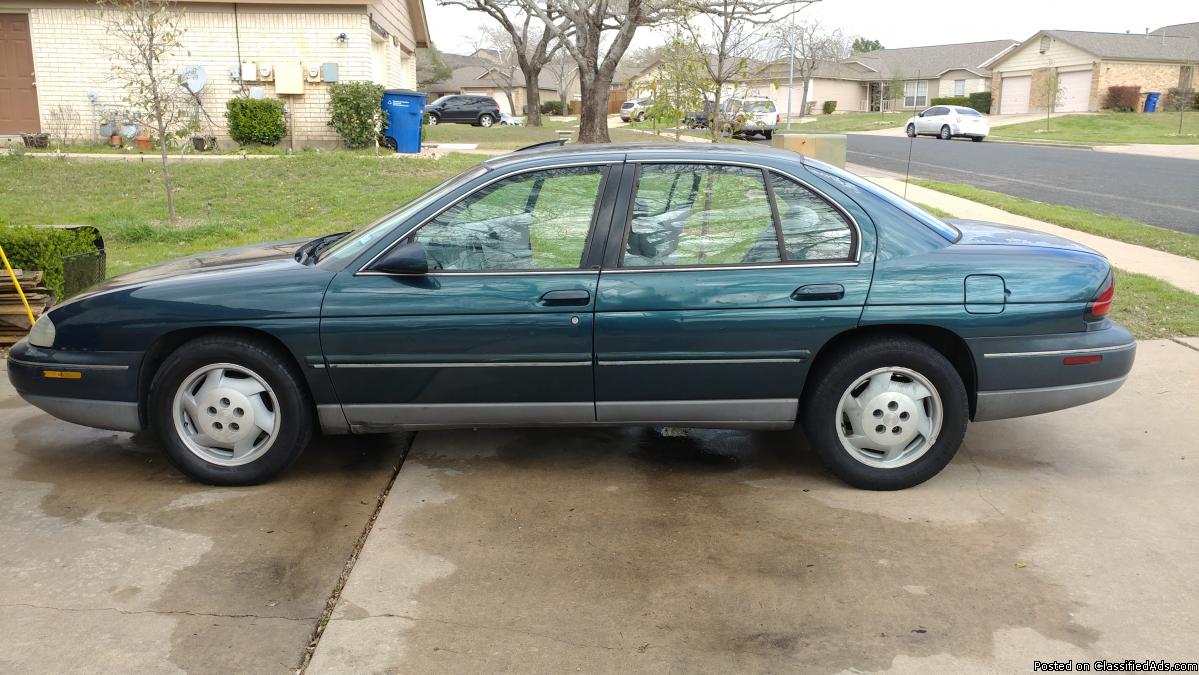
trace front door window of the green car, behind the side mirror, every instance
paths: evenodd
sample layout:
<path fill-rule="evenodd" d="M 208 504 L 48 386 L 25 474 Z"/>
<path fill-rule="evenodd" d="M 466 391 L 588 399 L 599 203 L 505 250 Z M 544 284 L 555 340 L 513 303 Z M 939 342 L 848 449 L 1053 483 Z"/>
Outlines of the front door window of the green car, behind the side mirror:
<path fill-rule="evenodd" d="M 472 192 L 409 237 L 432 270 L 574 270 L 603 167 L 528 171 Z"/>

